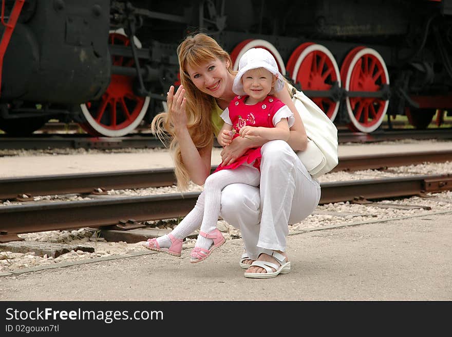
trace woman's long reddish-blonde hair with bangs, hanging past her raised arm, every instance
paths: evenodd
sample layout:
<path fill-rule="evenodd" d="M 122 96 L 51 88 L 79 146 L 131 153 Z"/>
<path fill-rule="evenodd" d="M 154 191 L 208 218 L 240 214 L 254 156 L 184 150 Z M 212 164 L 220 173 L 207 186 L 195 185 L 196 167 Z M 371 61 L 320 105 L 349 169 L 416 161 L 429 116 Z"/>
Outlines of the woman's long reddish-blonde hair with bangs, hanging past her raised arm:
<path fill-rule="evenodd" d="M 187 129 L 198 151 L 202 151 L 211 143 L 214 134 L 211 115 L 215 99 L 195 86 L 187 73 L 187 66 L 193 68 L 205 62 L 220 59 L 224 62 L 229 61 L 228 71 L 233 74 L 231 57 L 213 38 L 204 33 L 187 36 L 177 47 L 177 55 L 180 82 L 185 89 Z M 168 107 L 168 110 L 170 109 L 171 107 Z M 170 150 L 173 153 L 177 186 L 181 190 L 186 189 L 190 175 L 182 162 L 180 145 L 175 135 L 171 115 L 168 112 L 156 115 L 151 123 L 151 130 L 161 140 L 165 132 L 170 135 Z"/>

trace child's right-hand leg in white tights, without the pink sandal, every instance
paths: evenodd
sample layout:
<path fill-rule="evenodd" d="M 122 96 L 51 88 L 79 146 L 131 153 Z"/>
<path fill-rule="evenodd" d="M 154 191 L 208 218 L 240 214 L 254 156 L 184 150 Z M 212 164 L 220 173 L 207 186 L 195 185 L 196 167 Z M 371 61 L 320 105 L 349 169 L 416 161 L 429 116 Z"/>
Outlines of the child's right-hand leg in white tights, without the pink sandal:
<path fill-rule="evenodd" d="M 234 170 L 221 170 L 211 174 L 204 185 L 204 215 L 202 217 L 201 232 L 210 233 L 217 227 L 220 214 L 221 190 L 233 183 L 244 183 L 258 186 L 260 181 L 259 171 L 252 166 L 243 165 Z M 196 247 L 209 250 L 213 240 L 198 235 Z"/>

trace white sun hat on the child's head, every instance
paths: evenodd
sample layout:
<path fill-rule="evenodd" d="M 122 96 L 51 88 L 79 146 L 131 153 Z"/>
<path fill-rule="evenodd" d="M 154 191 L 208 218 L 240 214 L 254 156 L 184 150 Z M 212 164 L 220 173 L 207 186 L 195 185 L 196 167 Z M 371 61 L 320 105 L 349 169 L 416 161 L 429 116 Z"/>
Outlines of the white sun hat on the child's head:
<path fill-rule="evenodd" d="M 238 63 L 238 73 L 234 79 L 232 91 L 236 95 L 245 95 L 241 78 L 248 70 L 265 68 L 276 76 L 275 91 L 281 91 L 284 87 L 283 75 L 279 73 L 278 65 L 270 51 L 263 48 L 251 48 L 245 52 Z"/>

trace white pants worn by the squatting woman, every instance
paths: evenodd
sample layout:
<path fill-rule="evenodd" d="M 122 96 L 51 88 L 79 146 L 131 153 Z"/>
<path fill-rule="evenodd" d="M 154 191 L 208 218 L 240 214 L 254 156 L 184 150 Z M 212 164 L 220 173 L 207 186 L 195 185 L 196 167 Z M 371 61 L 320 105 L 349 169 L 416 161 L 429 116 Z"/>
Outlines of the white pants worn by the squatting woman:
<path fill-rule="evenodd" d="M 240 229 L 248 256 L 286 250 L 288 224 L 302 221 L 317 207 L 320 185 L 290 146 L 272 140 L 261 148 L 260 187 L 231 184 L 221 192 L 220 216 Z"/>

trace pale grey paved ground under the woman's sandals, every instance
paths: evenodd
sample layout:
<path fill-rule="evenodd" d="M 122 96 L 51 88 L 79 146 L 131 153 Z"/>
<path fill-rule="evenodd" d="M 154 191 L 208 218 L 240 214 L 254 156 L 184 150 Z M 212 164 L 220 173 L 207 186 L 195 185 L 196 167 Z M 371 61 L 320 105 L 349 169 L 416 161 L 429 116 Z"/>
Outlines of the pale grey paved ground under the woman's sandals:
<path fill-rule="evenodd" d="M 242 241 L 0 277 L 1 300 L 452 300 L 452 210 L 288 238 L 292 271 L 247 279 Z"/>

